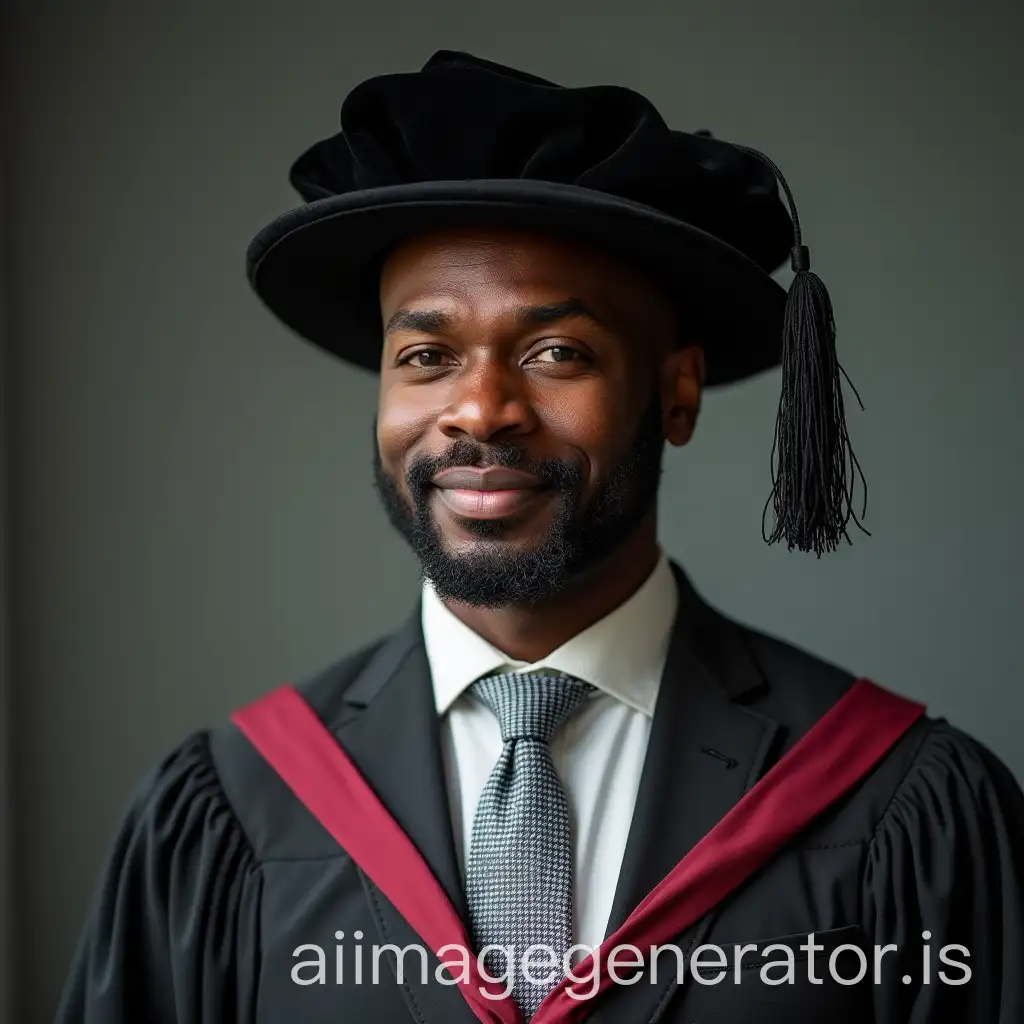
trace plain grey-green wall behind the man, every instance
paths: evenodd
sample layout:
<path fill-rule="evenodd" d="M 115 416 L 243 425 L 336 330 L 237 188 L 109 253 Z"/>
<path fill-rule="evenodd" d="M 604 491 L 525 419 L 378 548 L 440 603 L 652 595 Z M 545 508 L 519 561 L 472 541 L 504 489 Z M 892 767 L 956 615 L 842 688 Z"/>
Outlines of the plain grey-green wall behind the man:
<path fill-rule="evenodd" d="M 820 562 L 762 544 L 770 375 L 710 397 L 672 455 L 665 544 L 732 613 L 927 699 L 1024 776 L 1022 14 L 8 5 L 19 1024 L 51 1015 L 144 768 L 413 598 L 371 488 L 373 380 L 275 325 L 242 265 L 344 92 L 439 47 L 632 85 L 780 163 L 867 406 L 874 536 Z"/>

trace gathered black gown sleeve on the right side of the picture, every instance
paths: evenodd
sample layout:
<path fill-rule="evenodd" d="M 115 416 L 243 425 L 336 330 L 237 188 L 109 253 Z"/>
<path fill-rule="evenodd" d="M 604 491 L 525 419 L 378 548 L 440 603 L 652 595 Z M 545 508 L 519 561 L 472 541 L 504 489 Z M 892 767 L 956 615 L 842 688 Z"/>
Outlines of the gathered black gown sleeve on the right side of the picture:
<path fill-rule="evenodd" d="M 879 824 L 863 897 L 872 974 L 896 946 L 877 959 L 878 1024 L 1024 1022 L 1024 794 L 945 722 Z"/>

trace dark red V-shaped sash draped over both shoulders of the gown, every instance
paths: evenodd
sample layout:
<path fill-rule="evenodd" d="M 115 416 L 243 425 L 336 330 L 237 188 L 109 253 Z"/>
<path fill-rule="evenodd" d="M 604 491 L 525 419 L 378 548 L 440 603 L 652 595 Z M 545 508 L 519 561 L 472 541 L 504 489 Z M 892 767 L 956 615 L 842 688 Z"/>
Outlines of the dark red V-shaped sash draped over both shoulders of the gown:
<path fill-rule="evenodd" d="M 614 983 L 602 970 L 605 951 L 618 945 L 649 950 L 693 925 L 866 775 L 924 711 L 857 680 L 573 969 L 584 980 L 563 978 L 548 993 L 531 1024 L 582 1021 L 593 998 Z M 294 687 L 280 687 L 231 719 L 438 959 L 451 965 L 450 977 L 461 976 L 477 1019 L 521 1024 L 511 996 L 479 973 L 466 928 L 419 851 Z"/>

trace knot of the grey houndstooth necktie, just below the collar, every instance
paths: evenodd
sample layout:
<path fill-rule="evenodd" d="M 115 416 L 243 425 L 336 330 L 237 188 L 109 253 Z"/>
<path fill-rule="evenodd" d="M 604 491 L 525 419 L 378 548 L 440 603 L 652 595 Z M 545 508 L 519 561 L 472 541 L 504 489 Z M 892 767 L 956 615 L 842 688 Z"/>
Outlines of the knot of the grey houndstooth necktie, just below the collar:
<path fill-rule="evenodd" d="M 484 676 L 470 689 L 498 719 L 503 743 L 510 739 L 548 743 L 594 687 L 572 676 L 508 672 Z"/>

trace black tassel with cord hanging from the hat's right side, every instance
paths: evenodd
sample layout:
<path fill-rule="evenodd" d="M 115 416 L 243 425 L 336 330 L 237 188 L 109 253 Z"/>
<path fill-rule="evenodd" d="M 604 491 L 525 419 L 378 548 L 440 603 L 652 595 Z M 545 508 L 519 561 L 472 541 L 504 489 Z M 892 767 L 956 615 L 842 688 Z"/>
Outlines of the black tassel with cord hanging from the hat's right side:
<path fill-rule="evenodd" d="M 794 226 L 791 254 L 794 279 L 782 325 L 782 390 L 772 445 L 772 492 L 762 515 L 767 544 L 784 541 L 792 551 L 813 551 L 819 558 L 841 540 L 852 544 L 852 521 L 861 532 L 867 512 L 867 482 L 853 452 L 846 426 L 842 378 L 857 402 L 863 402 L 836 354 L 836 319 L 821 279 L 811 271 L 803 245 L 797 207 L 781 172 L 763 153 L 741 146 L 769 168 L 785 191 Z M 859 516 L 853 510 L 857 480 L 863 488 Z M 774 508 L 769 535 L 765 519 Z"/>

